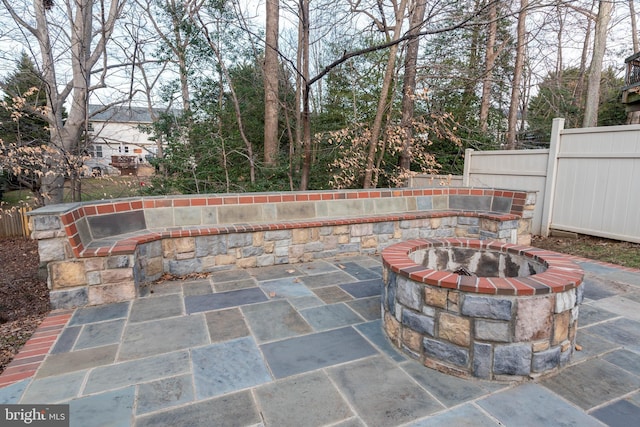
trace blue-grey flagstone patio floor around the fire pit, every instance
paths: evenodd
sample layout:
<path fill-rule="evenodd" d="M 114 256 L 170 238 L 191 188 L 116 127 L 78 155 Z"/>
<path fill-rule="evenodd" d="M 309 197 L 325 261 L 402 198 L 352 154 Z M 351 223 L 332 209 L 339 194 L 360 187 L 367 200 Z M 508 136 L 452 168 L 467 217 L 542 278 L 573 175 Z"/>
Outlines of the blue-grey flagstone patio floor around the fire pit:
<path fill-rule="evenodd" d="M 89 427 L 631 425 L 640 274 L 582 264 L 582 351 L 526 383 L 450 377 L 400 353 L 382 332 L 379 259 L 359 256 L 218 271 L 69 312 L 0 403 L 70 403 L 72 425 Z"/>

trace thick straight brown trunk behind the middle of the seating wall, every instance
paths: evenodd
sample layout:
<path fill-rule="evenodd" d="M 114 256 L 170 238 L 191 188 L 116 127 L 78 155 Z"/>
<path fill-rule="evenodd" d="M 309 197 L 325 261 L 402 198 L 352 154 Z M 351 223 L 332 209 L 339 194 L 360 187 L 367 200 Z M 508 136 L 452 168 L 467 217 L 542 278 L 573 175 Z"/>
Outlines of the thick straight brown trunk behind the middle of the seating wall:
<path fill-rule="evenodd" d="M 279 0 L 267 0 L 264 48 L 264 163 L 275 166 L 278 160 L 278 18 Z"/>

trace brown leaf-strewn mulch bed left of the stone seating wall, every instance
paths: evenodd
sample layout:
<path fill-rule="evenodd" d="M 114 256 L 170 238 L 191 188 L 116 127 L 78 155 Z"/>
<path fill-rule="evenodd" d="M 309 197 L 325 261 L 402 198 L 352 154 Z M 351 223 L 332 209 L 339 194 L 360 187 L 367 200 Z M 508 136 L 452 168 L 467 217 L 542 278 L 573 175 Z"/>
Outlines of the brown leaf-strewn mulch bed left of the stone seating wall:
<path fill-rule="evenodd" d="M 38 242 L 0 238 L 0 373 L 49 312 L 38 265 Z"/>

